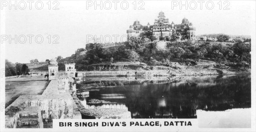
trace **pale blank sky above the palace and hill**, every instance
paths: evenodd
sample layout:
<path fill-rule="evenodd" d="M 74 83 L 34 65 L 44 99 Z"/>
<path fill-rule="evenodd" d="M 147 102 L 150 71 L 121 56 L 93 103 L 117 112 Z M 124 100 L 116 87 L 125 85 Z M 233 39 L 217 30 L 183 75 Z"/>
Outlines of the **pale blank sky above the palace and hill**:
<path fill-rule="evenodd" d="M 109 3 L 106 1 L 102 1 L 102 9 L 100 6 L 95 8 L 95 3 L 90 6 L 90 2 L 94 1 L 58 1 L 58 3 L 51 3 L 50 10 L 47 2 L 48 0 L 42 1 L 44 6 L 41 10 L 35 8 L 35 3 L 32 3 L 31 10 L 29 3 L 26 3 L 24 10 L 20 9 L 23 8 L 23 3 L 20 3 L 18 6 L 20 8 L 17 10 L 14 7 L 9 9 L 8 6 L 0 10 L 1 19 L 4 22 L 4 25 L 1 23 L 1 28 L 4 26 L 2 34 L 8 36 L 8 39 L 3 41 L 5 58 L 10 62 L 29 63 L 32 59 L 43 62 L 57 56 L 65 58 L 74 54 L 78 48 L 85 48 L 91 36 L 100 38 L 102 35 L 102 42 L 125 41 L 126 30 L 135 20 L 139 20 L 142 25 L 147 25 L 148 22 L 152 25 L 160 11 L 165 13 L 170 23 L 173 21 L 175 24 L 180 24 L 186 17 L 196 27 L 197 35 L 217 33 L 250 35 L 250 29 L 253 24 L 255 25 L 255 7 L 253 7 L 255 1 L 229 1 L 230 3 L 222 1 L 221 7 L 218 4 L 219 1 L 212 1 L 214 6 L 211 10 L 207 9 L 211 4 L 208 3 L 206 7 L 207 1 L 202 3 L 202 9 L 200 9 L 200 3 L 195 1 L 197 3 L 195 10 L 192 9 L 195 7 L 194 3 L 189 6 L 191 1 L 188 1 L 188 9 L 185 6 L 180 8 L 180 3 L 174 6 L 175 3 L 168 0 L 150 0 L 141 3 L 136 1 L 136 6 L 131 0 L 127 1 L 127 9 L 125 9 L 125 2 L 121 6 L 120 1 L 116 3 L 115 9 L 115 3 L 110 1 L 111 9 L 109 10 Z M 100 1 L 97 3 L 99 4 Z M 54 6 L 58 10 L 52 10 Z M 229 9 L 224 10 L 225 6 Z M 37 7 L 40 8 L 40 5 Z M 17 44 L 14 40 L 9 42 L 9 38 L 15 38 L 15 35 L 20 42 L 24 41 L 25 36 L 26 41 L 24 43 L 17 41 Z M 31 43 L 29 35 L 32 38 Z M 35 41 L 36 36 L 38 36 L 38 42 Z M 41 37 L 44 40 L 40 43 Z M 50 41 L 49 38 L 51 38 Z"/>

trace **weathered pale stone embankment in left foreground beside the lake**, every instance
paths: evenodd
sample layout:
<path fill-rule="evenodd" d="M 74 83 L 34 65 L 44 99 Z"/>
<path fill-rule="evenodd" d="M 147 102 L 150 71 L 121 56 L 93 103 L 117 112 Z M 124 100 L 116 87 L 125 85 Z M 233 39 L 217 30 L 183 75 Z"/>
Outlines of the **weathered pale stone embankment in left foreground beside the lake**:
<path fill-rule="evenodd" d="M 68 78 L 51 80 L 42 95 L 20 95 L 6 108 L 6 128 L 44 128 L 52 119 L 66 118 L 81 119 Z"/>

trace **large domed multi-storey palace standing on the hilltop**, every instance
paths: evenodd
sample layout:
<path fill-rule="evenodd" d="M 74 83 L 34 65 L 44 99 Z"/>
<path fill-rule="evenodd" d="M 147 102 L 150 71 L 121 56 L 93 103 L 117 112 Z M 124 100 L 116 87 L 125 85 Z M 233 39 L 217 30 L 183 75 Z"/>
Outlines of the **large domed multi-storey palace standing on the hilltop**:
<path fill-rule="evenodd" d="M 131 37 L 139 37 L 141 33 L 153 35 L 157 40 L 164 40 L 166 37 L 171 39 L 193 39 L 195 37 L 195 27 L 188 19 L 183 18 L 181 24 L 169 23 L 169 19 L 165 17 L 163 11 L 158 14 L 158 19 L 154 20 L 154 25 L 141 25 L 136 20 L 130 29 L 127 30 L 127 40 Z"/>

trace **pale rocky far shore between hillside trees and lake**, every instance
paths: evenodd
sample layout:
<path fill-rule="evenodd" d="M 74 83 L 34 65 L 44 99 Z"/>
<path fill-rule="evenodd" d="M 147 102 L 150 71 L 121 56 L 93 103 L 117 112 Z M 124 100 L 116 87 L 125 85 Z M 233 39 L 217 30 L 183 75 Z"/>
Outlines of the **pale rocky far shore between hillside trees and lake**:
<path fill-rule="evenodd" d="M 87 67 L 87 71 L 78 71 L 79 76 L 201 76 L 201 75 L 230 75 L 250 73 L 239 71 L 236 67 L 218 64 L 209 60 L 186 60 L 169 62 L 168 66 L 148 66 L 140 62 L 117 62 L 114 64 L 95 64 Z"/>

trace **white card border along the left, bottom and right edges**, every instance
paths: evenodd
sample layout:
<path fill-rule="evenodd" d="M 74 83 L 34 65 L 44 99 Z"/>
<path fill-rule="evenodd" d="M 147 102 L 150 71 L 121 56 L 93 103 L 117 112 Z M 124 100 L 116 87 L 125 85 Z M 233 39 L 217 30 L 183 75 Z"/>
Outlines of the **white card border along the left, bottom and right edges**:
<path fill-rule="evenodd" d="M 9 1 L 9 0 L 8 0 Z M 160 129 L 158 127 L 143 127 L 143 128 L 132 128 L 127 127 L 127 129 L 118 129 L 118 127 L 108 127 L 108 128 L 100 128 L 95 127 L 95 129 L 89 129 L 91 131 L 199 131 L 199 132 L 217 132 L 217 131 L 233 131 L 233 132 L 255 132 L 256 131 L 256 5 L 251 5 L 251 128 L 250 129 L 239 129 L 239 128 L 198 128 L 196 127 L 172 127 L 172 129 Z M 0 34 L 5 34 L 5 10 L 0 10 Z M 0 45 L 0 67 L 1 69 L 5 67 L 5 44 Z M 0 78 L 0 102 L 5 102 L 5 78 Z M 2 109 L 2 106 L 1 106 Z M 186 119 L 188 120 L 188 119 Z M 93 120 L 97 121 L 97 120 Z M 103 120 L 99 120 L 103 121 Z M 104 120 L 104 121 L 113 121 L 113 120 Z M 123 120 L 118 120 L 123 121 Z M 141 119 L 141 121 L 146 121 L 146 119 Z M 61 132 L 68 132 L 68 131 L 87 131 L 86 128 L 78 127 L 77 129 L 5 129 L 5 112 L 1 110 L 0 113 L 0 131 L 6 132 L 20 132 L 20 131 L 27 131 L 27 132 L 46 132 L 46 131 L 61 131 Z"/>

